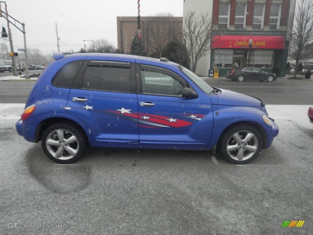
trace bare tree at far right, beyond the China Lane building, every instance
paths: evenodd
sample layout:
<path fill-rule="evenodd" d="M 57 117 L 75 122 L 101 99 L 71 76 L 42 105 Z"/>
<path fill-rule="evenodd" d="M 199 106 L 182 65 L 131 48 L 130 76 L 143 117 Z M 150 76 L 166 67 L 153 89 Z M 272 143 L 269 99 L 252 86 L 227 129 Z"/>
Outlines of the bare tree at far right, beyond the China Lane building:
<path fill-rule="evenodd" d="M 295 74 L 299 60 L 306 55 L 306 51 L 310 44 L 313 43 L 313 4 L 311 0 L 297 1 L 295 9 L 295 17 L 292 28 L 292 39 L 290 44 L 290 52 L 295 59 Z"/>

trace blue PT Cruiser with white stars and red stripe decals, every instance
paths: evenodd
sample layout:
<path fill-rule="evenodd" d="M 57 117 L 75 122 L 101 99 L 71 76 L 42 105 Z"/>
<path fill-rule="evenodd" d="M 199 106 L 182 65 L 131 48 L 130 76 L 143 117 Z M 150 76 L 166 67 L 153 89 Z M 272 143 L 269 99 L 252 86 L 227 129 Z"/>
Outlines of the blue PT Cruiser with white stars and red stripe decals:
<path fill-rule="evenodd" d="M 16 123 L 58 163 L 87 146 L 220 151 L 245 164 L 269 148 L 278 127 L 254 97 L 213 88 L 165 58 L 54 54 Z"/>

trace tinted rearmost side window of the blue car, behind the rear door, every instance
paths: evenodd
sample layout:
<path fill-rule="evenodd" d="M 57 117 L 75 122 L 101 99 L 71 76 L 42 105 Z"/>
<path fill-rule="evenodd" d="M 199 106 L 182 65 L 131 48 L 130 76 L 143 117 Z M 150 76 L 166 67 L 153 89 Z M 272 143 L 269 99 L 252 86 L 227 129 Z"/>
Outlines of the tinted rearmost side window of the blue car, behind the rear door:
<path fill-rule="evenodd" d="M 74 61 L 65 65 L 52 81 L 52 85 L 70 88 L 84 60 Z"/>

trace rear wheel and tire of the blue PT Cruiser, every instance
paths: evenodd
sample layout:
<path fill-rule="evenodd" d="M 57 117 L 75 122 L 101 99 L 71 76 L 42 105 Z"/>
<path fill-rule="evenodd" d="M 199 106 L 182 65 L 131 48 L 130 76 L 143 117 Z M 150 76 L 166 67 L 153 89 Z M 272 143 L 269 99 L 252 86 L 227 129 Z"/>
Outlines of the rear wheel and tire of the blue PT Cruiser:
<path fill-rule="evenodd" d="M 85 133 L 75 125 L 57 123 L 44 131 L 41 146 L 51 160 L 62 164 L 73 163 L 85 151 L 85 138 Z"/>

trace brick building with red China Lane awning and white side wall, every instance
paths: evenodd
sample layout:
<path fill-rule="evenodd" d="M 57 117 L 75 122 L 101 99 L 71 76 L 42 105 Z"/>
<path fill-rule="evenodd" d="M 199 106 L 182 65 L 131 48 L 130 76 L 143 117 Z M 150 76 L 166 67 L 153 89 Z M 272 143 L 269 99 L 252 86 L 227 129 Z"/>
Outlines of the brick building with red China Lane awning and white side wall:
<path fill-rule="evenodd" d="M 203 9 L 203 2 L 210 5 L 208 9 Z M 185 0 L 184 16 L 192 10 L 209 13 L 215 33 L 211 51 L 201 59 L 196 72 L 207 75 L 209 68 L 218 68 L 220 76 L 225 76 L 229 69 L 249 64 L 285 76 L 295 2 Z"/>

